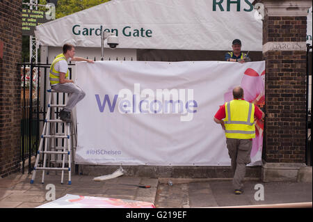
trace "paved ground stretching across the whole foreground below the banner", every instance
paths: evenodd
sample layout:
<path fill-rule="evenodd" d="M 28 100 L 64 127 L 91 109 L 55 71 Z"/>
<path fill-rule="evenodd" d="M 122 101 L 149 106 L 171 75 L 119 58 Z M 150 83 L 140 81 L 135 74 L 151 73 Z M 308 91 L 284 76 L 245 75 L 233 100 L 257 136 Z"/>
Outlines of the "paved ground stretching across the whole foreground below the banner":
<path fill-rule="evenodd" d="M 121 176 L 104 182 L 94 182 L 92 176 L 72 175 L 72 185 L 61 184 L 61 174 L 45 176 L 41 184 L 41 174 L 30 184 L 31 175 L 14 174 L 0 178 L 0 207 L 38 207 L 48 203 L 45 196 L 47 184 L 56 186 L 56 198 L 66 193 L 140 200 L 154 203 L 156 207 L 223 207 L 239 205 L 264 205 L 277 203 L 312 202 L 312 183 L 246 181 L 245 192 L 236 196 L 232 192 L 231 180 L 184 180 L 151 179 L 145 177 Z M 123 184 L 150 185 L 143 189 Z M 264 186 L 264 200 L 255 200 L 255 184 Z"/>

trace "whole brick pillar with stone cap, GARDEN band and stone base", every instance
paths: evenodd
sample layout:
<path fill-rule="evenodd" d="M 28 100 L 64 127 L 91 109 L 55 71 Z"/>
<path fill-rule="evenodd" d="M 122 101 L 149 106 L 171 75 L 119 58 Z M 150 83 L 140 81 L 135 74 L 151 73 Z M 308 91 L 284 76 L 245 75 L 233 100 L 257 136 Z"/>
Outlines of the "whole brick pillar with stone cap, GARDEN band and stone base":
<path fill-rule="evenodd" d="M 259 1 L 264 5 L 266 128 L 262 177 L 296 180 L 305 166 L 307 10 L 312 1 Z"/>

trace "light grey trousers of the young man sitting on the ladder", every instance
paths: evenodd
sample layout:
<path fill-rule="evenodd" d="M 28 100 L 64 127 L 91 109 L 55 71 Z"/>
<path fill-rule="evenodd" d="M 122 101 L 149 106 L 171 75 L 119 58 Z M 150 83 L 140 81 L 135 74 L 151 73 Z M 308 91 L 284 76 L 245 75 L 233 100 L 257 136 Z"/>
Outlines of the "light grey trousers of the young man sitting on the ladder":
<path fill-rule="evenodd" d="M 51 86 L 51 88 L 60 93 L 68 93 L 67 103 L 64 108 L 65 111 L 72 111 L 74 106 L 76 106 L 79 101 L 83 100 L 83 97 L 86 95 L 79 86 L 73 83 L 58 84 Z"/>

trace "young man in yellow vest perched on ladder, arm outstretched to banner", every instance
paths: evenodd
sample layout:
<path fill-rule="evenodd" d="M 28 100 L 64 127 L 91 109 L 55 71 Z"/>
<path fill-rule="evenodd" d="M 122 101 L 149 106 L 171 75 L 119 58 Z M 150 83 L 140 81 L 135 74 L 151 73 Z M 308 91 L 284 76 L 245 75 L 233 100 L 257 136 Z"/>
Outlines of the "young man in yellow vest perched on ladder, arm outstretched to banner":
<path fill-rule="evenodd" d="M 74 57 L 74 45 L 63 45 L 63 54 L 58 54 L 50 66 L 49 80 L 53 90 L 60 93 L 69 93 L 67 104 L 59 113 L 59 117 L 64 122 L 70 122 L 70 112 L 74 106 L 85 97 L 85 93 L 79 86 L 74 84 L 72 79 L 67 79 L 69 70 L 67 61 L 87 61 L 93 63 L 92 60 Z"/>

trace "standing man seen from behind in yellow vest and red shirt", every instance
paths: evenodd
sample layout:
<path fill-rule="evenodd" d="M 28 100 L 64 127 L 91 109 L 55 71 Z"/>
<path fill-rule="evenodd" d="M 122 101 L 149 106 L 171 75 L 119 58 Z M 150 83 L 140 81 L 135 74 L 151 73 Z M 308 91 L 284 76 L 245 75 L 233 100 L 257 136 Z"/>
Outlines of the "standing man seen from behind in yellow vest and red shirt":
<path fill-rule="evenodd" d="M 251 162 L 252 138 L 255 138 L 255 118 L 264 118 L 264 113 L 254 104 L 243 100 L 243 88 L 233 89 L 234 100 L 226 102 L 217 111 L 214 121 L 225 130 L 228 154 L 234 174 L 234 193 L 243 193 L 243 178 L 246 164 Z M 223 120 L 224 119 L 224 120 Z"/>

